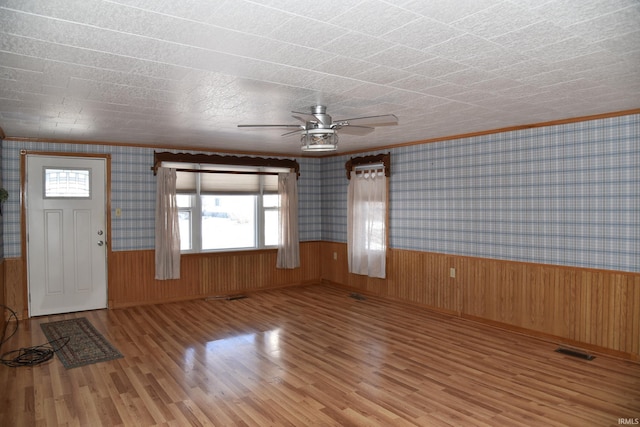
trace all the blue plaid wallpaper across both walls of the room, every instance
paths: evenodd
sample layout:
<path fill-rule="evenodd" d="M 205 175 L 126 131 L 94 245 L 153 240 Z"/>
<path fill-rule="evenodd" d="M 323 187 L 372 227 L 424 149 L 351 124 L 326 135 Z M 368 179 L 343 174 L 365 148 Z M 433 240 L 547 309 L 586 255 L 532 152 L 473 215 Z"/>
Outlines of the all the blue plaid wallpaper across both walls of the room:
<path fill-rule="evenodd" d="M 154 247 L 153 148 L 3 141 L 5 257 L 20 256 L 22 149 L 111 154 L 112 249 Z M 363 155 L 386 151 L 393 248 L 640 272 L 640 115 Z M 302 241 L 346 242 L 349 157 L 298 159 Z"/>

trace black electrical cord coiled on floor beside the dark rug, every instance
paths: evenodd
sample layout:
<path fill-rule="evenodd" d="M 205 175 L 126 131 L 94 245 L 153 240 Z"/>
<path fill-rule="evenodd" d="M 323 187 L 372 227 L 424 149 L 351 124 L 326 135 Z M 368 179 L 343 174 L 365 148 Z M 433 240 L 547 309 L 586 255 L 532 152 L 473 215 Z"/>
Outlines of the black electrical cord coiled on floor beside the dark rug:
<path fill-rule="evenodd" d="M 9 339 L 15 335 L 18 331 L 18 315 L 11 308 L 7 307 L 4 304 L 0 304 L 0 307 L 3 307 L 5 310 L 9 311 L 9 319 L 4 325 L 4 330 L 2 331 L 2 339 L 0 339 L 0 349 L 2 349 L 2 345 L 9 341 Z M 3 313 L 4 315 L 4 313 Z M 7 336 L 7 331 L 9 329 L 9 325 L 12 323 L 11 320 L 15 320 L 15 327 L 11 334 Z M 10 366 L 12 368 L 19 366 L 34 366 L 44 363 L 53 358 L 54 353 L 57 350 L 60 350 L 65 345 L 69 343 L 69 337 L 58 338 L 53 341 L 49 341 L 47 344 L 41 344 L 34 347 L 26 347 L 20 348 L 18 350 L 9 351 L 0 356 L 0 363 L 6 366 Z M 60 344 L 58 346 L 58 344 Z"/>

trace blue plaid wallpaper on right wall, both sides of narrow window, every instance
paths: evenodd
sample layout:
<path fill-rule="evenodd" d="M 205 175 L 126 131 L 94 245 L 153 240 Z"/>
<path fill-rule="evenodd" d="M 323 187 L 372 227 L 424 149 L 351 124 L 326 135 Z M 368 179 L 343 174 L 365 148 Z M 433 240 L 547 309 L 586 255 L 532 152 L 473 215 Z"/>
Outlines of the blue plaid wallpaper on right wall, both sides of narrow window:
<path fill-rule="evenodd" d="M 393 248 L 640 271 L 640 115 L 390 151 Z M 346 241 L 346 160 L 323 164 L 325 240 Z"/>

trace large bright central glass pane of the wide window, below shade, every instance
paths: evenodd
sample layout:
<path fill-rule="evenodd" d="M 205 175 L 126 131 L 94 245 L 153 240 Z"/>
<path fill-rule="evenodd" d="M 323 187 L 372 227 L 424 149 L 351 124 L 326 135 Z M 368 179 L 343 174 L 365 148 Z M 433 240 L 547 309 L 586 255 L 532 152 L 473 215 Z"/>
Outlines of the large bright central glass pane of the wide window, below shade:
<path fill-rule="evenodd" d="M 202 249 L 256 247 L 256 197 L 203 195 Z"/>

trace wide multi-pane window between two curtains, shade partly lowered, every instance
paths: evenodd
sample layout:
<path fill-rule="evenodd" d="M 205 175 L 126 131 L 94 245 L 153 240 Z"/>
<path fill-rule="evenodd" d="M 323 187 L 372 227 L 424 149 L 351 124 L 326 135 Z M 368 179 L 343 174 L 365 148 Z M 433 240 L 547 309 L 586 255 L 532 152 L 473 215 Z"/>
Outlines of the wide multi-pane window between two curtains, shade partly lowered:
<path fill-rule="evenodd" d="M 177 172 L 181 251 L 257 249 L 278 244 L 277 173 L 289 169 L 166 162 L 163 165 L 189 170 Z"/>

